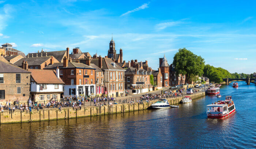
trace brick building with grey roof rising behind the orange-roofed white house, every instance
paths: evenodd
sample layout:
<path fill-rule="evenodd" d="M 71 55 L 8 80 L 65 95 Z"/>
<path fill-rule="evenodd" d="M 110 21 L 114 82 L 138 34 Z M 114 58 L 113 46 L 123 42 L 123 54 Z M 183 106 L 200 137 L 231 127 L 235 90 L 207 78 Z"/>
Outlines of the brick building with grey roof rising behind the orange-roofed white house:
<path fill-rule="evenodd" d="M 15 62 L 16 66 L 22 67 L 22 62 L 25 61 L 29 64 L 30 69 L 44 69 L 49 64 L 59 63 L 57 59 L 53 56 L 43 56 L 43 57 L 31 57 L 31 58 L 22 58 Z"/>

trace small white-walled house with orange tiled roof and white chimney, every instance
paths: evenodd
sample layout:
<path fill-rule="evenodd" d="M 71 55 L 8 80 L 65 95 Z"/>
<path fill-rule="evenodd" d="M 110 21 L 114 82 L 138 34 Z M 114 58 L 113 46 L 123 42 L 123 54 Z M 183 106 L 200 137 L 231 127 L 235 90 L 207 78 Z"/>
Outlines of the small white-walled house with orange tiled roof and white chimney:
<path fill-rule="evenodd" d="M 31 72 L 30 97 L 34 102 L 60 100 L 63 94 L 63 85 L 60 79 L 60 69 L 39 70 L 29 69 Z"/>

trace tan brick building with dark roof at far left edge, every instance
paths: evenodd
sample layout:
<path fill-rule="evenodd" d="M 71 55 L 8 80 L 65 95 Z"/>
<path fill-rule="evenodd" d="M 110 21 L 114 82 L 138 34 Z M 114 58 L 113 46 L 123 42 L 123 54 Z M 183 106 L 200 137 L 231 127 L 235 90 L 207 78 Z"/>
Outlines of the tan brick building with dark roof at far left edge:
<path fill-rule="evenodd" d="M 7 61 L 0 60 L 0 102 L 2 104 L 5 105 L 5 102 L 9 100 L 13 103 L 17 99 L 20 102 L 28 101 L 30 73 Z"/>

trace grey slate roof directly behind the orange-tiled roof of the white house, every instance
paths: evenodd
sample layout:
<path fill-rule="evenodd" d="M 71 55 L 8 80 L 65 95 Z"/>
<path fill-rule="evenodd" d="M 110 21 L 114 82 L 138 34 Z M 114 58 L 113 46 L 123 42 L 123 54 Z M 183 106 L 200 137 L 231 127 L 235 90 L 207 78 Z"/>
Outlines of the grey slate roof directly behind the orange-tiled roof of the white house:
<path fill-rule="evenodd" d="M 50 59 L 51 56 L 44 56 L 44 57 L 33 57 L 33 58 L 22 58 L 15 62 L 14 64 L 17 66 L 22 66 L 22 61 L 25 60 L 29 65 L 41 65 L 44 63 L 46 60 Z"/>

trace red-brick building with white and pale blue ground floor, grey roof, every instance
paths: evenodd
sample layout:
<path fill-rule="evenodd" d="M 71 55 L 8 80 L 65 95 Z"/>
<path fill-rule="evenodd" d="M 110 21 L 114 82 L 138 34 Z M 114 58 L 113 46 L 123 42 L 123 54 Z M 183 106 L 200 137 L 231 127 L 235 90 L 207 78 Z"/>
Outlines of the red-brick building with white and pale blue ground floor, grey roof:
<path fill-rule="evenodd" d="M 95 96 L 95 68 L 90 66 L 89 59 L 83 64 L 64 57 L 63 63 L 50 64 L 44 69 L 56 68 L 60 69 L 60 78 L 65 83 L 65 98 L 79 95 Z"/>

